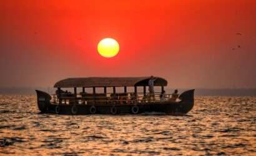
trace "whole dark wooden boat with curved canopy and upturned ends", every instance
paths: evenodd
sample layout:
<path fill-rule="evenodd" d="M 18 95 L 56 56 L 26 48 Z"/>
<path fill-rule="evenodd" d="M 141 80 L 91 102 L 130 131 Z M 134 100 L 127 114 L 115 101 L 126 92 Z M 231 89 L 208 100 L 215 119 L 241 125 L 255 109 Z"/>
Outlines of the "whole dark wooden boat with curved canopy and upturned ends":
<path fill-rule="evenodd" d="M 172 94 L 147 93 L 150 77 L 86 77 L 60 80 L 54 87 L 56 94 L 49 95 L 36 90 L 37 105 L 42 113 L 54 114 L 140 114 L 162 112 L 165 114 L 187 114 L 194 107 L 194 89 L 187 90 L 177 99 Z M 155 77 L 154 87 L 164 90 L 167 80 Z M 117 92 L 117 87 L 122 92 Z M 87 93 L 86 89 L 92 89 Z M 102 88 L 104 92 L 96 93 Z M 62 89 L 74 89 L 65 92 Z M 82 90 L 77 93 L 77 89 Z M 112 89 L 112 92 L 107 90 Z M 133 90 L 127 92 L 127 89 Z M 137 90 L 143 89 L 143 92 Z"/>

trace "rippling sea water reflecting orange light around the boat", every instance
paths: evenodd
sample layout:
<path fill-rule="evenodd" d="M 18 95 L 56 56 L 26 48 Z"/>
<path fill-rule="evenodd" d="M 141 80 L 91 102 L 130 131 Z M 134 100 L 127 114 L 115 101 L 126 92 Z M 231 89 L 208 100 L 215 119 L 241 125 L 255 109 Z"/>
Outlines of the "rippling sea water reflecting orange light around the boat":
<path fill-rule="evenodd" d="M 256 97 L 196 97 L 185 116 L 38 114 L 0 95 L 0 155 L 256 155 Z"/>

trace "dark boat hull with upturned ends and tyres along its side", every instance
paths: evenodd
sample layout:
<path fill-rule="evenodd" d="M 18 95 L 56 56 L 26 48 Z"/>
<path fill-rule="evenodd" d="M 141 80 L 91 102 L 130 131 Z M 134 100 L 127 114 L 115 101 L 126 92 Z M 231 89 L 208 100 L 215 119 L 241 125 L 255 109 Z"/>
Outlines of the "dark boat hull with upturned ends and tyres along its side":
<path fill-rule="evenodd" d="M 51 97 L 51 96 L 50 96 Z M 41 100 L 40 100 L 41 99 Z M 45 100 L 44 100 L 45 99 Z M 86 115 L 86 114 L 187 114 L 194 107 L 194 90 L 180 94 L 180 102 L 147 102 L 137 104 L 56 104 L 50 102 L 49 94 L 37 90 L 37 105 L 42 113 Z"/>

